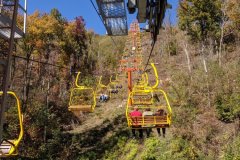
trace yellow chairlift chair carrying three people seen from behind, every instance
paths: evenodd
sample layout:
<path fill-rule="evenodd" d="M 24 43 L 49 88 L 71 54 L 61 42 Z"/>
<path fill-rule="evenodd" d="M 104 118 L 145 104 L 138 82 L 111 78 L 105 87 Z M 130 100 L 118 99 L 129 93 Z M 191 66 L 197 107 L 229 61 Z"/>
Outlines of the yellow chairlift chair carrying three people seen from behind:
<path fill-rule="evenodd" d="M 155 84 L 153 86 L 145 86 L 144 90 L 132 91 L 128 96 L 129 103 L 127 103 L 126 107 L 126 117 L 128 127 L 130 128 L 166 128 L 171 125 L 172 109 L 167 94 L 163 90 L 157 89 L 159 83 L 157 69 L 153 63 L 151 63 L 151 66 L 154 69 L 154 74 L 156 77 Z M 134 99 L 136 95 L 151 95 L 151 100 L 149 99 L 147 101 L 151 103 L 144 104 L 141 101 L 136 101 Z M 133 111 L 134 106 L 137 106 L 137 108 L 142 112 L 144 112 L 146 109 L 150 109 L 152 110 L 153 115 L 145 117 L 131 117 L 130 113 Z M 158 111 L 162 112 L 163 114 L 154 114 Z"/>

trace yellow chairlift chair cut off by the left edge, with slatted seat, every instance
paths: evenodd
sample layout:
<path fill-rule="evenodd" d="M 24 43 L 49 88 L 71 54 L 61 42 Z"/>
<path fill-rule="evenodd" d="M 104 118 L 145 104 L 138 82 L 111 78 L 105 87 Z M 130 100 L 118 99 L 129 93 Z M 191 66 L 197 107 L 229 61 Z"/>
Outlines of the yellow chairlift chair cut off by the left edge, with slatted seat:
<path fill-rule="evenodd" d="M 20 107 L 19 99 L 16 96 L 16 94 L 12 91 L 8 91 L 7 94 L 14 97 L 14 99 L 16 100 L 16 107 L 17 107 L 17 111 L 18 111 L 18 117 L 17 118 L 19 120 L 20 131 L 19 131 L 18 137 L 16 139 L 13 139 L 13 140 L 3 139 L 1 141 L 1 144 L 0 144 L 0 158 L 11 157 L 11 156 L 18 155 L 18 146 L 20 144 L 20 141 L 23 138 L 23 116 L 22 116 L 22 113 L 21 113 L 21 107 Z M 2 96 L 2 95 L 3 95 L 3 92 L 0 91 L 0 96 Z"/>

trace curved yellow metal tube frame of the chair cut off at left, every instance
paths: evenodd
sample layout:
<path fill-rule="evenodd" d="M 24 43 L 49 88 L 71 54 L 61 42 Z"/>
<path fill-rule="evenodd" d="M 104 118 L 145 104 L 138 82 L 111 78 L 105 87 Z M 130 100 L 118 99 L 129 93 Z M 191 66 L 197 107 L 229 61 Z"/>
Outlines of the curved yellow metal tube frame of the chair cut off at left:
<path fill-rule="evenodd" d="M 3 92 L 0 91 L 0 96 L 2 96 Z M 22 112 L 21 112 L 21 107 L 20 107 L 20 101 L 17 97 L 17 95 L 12 92 L 12 91 L 8 91 L 7 94 L 13 96 L 15 99 L 16 99 L 16 104 L 17 104 L 17 110 L 18 110 L 18 119 L 19 119 L 19 127 L 20 127 L 20 132 L 19 132 L 19 135 L 18 135 L 18 138 L 17 139 L 14 139 L 14 140 L 7 140 L 5 142 L 9 143 L 12 147 L 11 149 L 9 150 L 9 153 L 8 154 L 3 154 L 0 152 L 0 158 L 1 157 L 10 157 L 10 156 L 16 156 L 18 155 L 18 146 L 19 146 L 19 143 L 20 141 L 22 140 L 23 138 L 23 116 L 22 116 Z M 8 142 L 9 141 L 9 142 Z M 1 144 L 2 145 L 2 144 Z"/>

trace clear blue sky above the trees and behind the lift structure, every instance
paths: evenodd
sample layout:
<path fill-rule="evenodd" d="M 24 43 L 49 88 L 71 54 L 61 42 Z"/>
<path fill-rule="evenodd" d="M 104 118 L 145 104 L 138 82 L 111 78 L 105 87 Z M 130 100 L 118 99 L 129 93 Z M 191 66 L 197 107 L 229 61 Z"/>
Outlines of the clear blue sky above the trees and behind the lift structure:
<path fill-rule="evenodd" d="M 95 0 L 93 0 L 95 1 Z M 176 24 L 178 1 L 168 0 L 173 8 L 167 11 L 165 19 L 168 15 L 171 17 L 171 23 Z M 98 34 L 105 34 L 106 30 L 100 21 L 97 13 L 92 7 L 90 0 L 29 0 L 28 14 L 35 10 L 40 12 L 49 12 L 52 8 L 57 8 L 63 17 L 73 20 L 77 16 L 83 16 L 87 29 L 93 29 Z M 136 15 L 128 14 L 128 25 L 136 19 Z"/>

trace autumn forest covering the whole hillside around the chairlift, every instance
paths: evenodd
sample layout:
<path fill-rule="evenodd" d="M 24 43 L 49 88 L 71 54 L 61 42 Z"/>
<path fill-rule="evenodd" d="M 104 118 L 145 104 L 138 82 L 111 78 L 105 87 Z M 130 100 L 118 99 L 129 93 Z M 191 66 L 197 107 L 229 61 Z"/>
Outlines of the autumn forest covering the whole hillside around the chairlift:
<path fill-rule="evenodd" d="M 166 14 L 150 59 L 168 95 L 172 124 L 165 138 L 153 129 L 143 139 L 127 127 L 127 73 L 119 73 L 129 37 L 113 37 L 113 43 L 87 29 L 81 15 L 69 21 L 57 9 L 28 15 L 26 36 L 15 40 L 9 83 L 20 99 L 24 135 L 19 155 L 9 159 L 240 159 L 239 0 L 182 0 L 177 14 L 176 24 Z M 151 35 L 141 31 L 140 37 L 145 64 Z M 8 47 L 0 39 L 1 60 Z M 121 74 L 123 88 L 94 112 L 76 116 L 68 106 L 77 72 L 79 83 L 93 88 L 100 76 L 107 85 Z M 149 83 L 154 80 L 149 71 Z M 14 138 L 16 108 L 6 112 L 3 136 Z"/>

